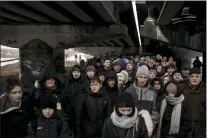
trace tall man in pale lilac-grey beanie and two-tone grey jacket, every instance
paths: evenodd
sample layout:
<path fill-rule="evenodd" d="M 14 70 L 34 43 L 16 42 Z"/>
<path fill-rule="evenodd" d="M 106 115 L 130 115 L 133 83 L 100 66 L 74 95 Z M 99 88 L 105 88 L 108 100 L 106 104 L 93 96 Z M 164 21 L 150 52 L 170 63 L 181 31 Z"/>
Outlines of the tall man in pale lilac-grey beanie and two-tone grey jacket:
<path fill-rule="evenodd" d="M 149 84 L 149 69 L 142 65 L 138 68 L 136 81 L 126 90 L 132 94 L 133 100 L 138 109 L 148 110 L 155 127 L 158 121 L 158 112 L 156 111 L 156 93 Z"/>

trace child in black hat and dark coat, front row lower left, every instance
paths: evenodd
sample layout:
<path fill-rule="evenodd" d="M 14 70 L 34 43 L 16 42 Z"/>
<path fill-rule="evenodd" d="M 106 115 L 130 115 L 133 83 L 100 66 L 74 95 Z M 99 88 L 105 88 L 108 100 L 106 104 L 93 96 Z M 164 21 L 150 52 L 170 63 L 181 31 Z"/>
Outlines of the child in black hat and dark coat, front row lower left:
<path fill-rule="evenodd" d="M 44 99 L 39 117 L 28 125 L 27 138 L 70 138 L 67 122 L 57 115 L 56 103 L 53 96 Z"/>

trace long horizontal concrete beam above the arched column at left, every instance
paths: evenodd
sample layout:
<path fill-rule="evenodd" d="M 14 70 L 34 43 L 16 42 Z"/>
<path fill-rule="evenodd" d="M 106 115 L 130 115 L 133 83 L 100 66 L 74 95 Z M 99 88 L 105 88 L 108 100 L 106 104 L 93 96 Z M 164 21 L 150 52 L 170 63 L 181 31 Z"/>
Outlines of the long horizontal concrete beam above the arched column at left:
<path fill-rule="evenodd" d="M 15 48 L 33 39 L 52 47 L 72 48 L 117 38 L 128 40 L 127 33 L 125 25 L 1 25 L 0 39 L 2 45 Z"/>

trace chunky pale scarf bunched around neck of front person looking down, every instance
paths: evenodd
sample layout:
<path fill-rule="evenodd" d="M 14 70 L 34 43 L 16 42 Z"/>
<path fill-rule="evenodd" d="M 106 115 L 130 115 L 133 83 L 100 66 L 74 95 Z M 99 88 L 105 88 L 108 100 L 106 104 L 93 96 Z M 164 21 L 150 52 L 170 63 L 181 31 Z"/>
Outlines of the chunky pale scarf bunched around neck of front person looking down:
<path fill-rule="evenodd" d="M 135 113 L 132 117 L 127 117 L 127 116 L 120 117 L 117 115 L 116 111 L 114 110 L 113 113 L 111 114 L 111 120 L 112 120 L 112 123 L 119 128 L 129 129 L 133 127 L 132 137 L 134 138 L 134 133 L 138 129 L 137 127 L 138 127 L 138 122 L 139 122 L 137 108 L 135 108 Z"/>

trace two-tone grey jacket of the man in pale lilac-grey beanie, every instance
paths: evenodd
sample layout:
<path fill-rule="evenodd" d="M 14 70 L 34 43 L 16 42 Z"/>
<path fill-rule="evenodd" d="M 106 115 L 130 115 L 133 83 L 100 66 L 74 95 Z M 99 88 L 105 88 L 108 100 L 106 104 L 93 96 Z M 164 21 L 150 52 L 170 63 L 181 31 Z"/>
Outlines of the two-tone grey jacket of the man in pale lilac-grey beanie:
<path fill-rule="evenodd" d="M 158 123 L 159 113 L 156 110 L 156 93 L 153 91 L 150 85 L 140 88 L 135 81 L 125 92 L 132 94 L 134 103 L 138 110 L 147 110 L 153 121 L 153 127 L 155 128 Z"/>

